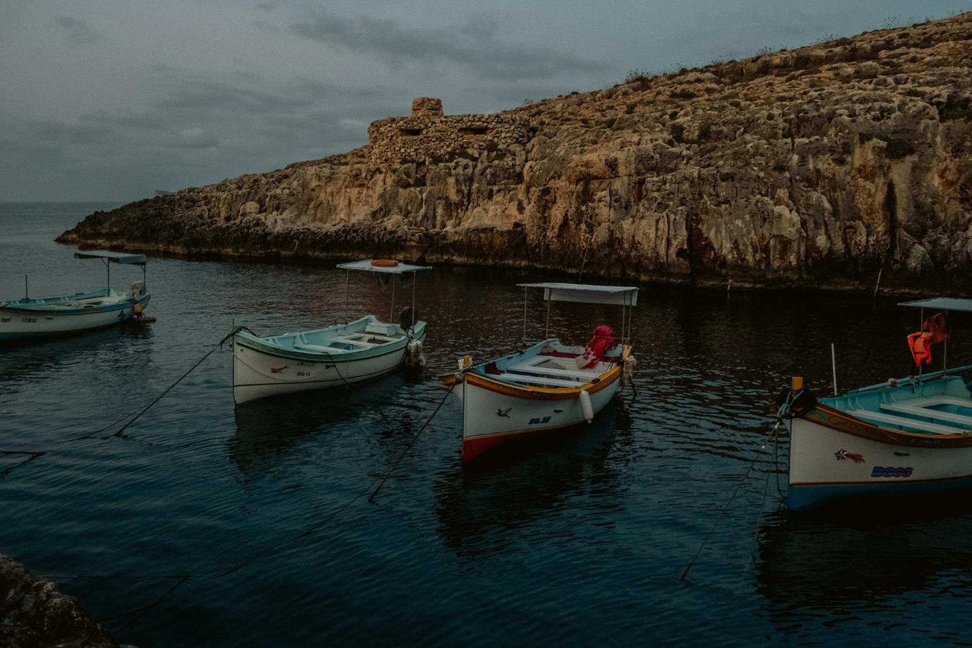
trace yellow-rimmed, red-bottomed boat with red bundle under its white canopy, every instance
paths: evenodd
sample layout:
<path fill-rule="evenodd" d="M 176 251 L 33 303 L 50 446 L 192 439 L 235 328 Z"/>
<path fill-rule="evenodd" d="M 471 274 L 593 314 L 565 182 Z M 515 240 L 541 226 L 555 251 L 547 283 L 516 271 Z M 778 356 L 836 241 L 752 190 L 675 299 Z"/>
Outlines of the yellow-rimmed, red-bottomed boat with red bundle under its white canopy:
<path fill-rule="evenodd" d="M 615 341 L 613 330 L 602 326 L 586 347 L 551 338 L 490 362 L 475 366 L 469 362 L 458 373 L 443 376 L 463 404 L 463 461 L 527 435 L 590 422 L 634 364 L 625 330 L 630 329 L 630 308 L 638 302 L 637 288 L 521 285 L 542 288 L 548 306 L 551 301 L 624 306 L 621 340 Z M 549 308 L 547 312 L 549 323 Z"/>

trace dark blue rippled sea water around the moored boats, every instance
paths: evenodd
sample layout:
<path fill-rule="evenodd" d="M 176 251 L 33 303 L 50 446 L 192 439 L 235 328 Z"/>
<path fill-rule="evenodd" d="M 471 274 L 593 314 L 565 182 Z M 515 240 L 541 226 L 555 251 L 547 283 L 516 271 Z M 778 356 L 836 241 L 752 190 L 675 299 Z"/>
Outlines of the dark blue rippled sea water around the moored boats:
<path fill-rule="evenodd" d="M 101 287 L 99 262 L 52 239 L 111 206 L 0 205 L 0 298 L 22 294 L 24 273 L 33 296 Z M 117 288 L 138 278 L 113 269 Z M 514 284 L 544 278 L 565 277 L 421 276 L 425 377 L 234 408 L 224 349 L 127 438 L 110 436 L 119 424 L 75 440 L 147 404 L 234 322 L 281 333 L 330 324 L 344 307 L 330 264 L 152 259 L 155 324 L 0 350 L 0 450 L 47 452 L 0 455 L 0 552 L 143 648 L 970 638 L 968 495 L 794 516 L 779 506 L 772 445 L 741 481 L 788 377 L 827 390 L 830 342 L 845 386 L 907 373 L 903 339 L 918 316 L 893 300 L 643 287 L 637 395 L 621 392 L 568 438 L 467 471 L 450 398 L 375 501 L 355 500 L 434 411 L 435 374 L 519 342 Z M 390 297 L 352 277 L 354 312 L 388 313 Z M 531 303 L 533 338 L 542 308 Z M 618 321 L 603 306 L 552 312 L 569 342 Z M 972 322 L 953 321 L 950 355 L 969 362 L 961 329 Z M 177 575 L 191 578 L 138 612 Z"/>

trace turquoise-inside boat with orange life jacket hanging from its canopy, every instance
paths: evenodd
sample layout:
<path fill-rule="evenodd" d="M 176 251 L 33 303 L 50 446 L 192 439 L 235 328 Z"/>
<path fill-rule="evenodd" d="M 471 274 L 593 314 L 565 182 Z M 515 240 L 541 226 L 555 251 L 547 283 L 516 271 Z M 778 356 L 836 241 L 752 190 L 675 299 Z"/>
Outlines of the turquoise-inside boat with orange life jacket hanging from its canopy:
<path fill-rule="evenodd" d="M 925 319 L 926 308 L 946 314 L 972 311 L 972 300 L 938 298 L 901 306 L 921 309 L 921 330 L 915 336 L 930 339 L 929 322 L 946 320 L 944 315 Z M 794 378 L 789 392 L 781 395 L 790 433 L 791 509 L 846 497 L 972 486 L 972 383 L 962 378 L 972 365 L 949 369 L 947 330 L 938 335 L 944 338 L 938 342 L 938 372 L 924 373 L 929 352 L 916 355 L 917 375 L 825 398 L 816 398 L 803 388 L 802 378 Z"/>

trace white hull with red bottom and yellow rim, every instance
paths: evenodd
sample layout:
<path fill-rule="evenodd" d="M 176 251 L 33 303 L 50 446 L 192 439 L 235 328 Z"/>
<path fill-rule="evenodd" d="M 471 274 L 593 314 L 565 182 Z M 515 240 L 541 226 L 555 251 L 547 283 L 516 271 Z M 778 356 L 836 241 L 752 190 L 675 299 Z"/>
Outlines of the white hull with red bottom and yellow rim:
<path fill-rule="evenodd" d="M 614 397 L 620 378 L 618 367 L 587 386 L 594 415 Z M 468 374 L 454 392 L 463 403 L 463 461 L 530 436 L 587 424 L 579 389 L 521 389 Z"/>

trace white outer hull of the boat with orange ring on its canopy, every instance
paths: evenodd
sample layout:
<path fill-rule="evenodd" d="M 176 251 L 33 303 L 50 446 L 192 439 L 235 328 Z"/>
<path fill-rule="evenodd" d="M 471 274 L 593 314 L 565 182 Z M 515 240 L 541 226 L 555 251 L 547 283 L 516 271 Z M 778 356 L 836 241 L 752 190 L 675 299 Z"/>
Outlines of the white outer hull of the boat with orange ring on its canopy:
<path fill-rule="evenodd" d="M 425 325 L 411 340 L 425 339 Z M 272 353 L 255 348 L 239 336 L 233 340 L 233 400 L 327 389 L 379 378 L 401 365 L 409 338 L 390 342 L 380 351 L 329 356 L 318 353 Z"/>

